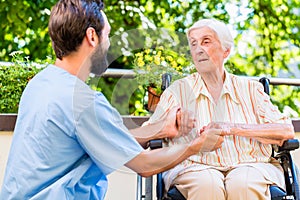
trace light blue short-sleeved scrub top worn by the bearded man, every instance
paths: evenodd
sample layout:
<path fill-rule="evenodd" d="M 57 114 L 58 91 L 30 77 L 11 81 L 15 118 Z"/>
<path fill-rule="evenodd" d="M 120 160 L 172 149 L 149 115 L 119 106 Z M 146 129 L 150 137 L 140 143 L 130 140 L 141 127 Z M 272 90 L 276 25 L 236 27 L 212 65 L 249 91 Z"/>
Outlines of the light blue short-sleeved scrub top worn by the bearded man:
<path fill-rule="evenodd" d="M 0 199 L 104 199 L 142 150 L 102 93 L 49 65 L 23 92 Z"/>

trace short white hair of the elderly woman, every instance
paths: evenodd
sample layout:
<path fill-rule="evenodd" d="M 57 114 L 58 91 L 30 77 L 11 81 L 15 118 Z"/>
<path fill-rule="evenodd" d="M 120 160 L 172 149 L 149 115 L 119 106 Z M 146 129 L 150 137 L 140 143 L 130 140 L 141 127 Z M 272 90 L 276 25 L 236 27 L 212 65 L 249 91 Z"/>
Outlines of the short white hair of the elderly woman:
<path fill-rule="evenodd" d="M 216 19 L 200 19 L 199 21 L 195 22 L 187 31 L 188 39 L 192 30 L 202 27 L 209 27 L 215 31 L 224 49 L 230 49 L 233 47 L 234 42 L 228 27 L 225 23 Z"/>

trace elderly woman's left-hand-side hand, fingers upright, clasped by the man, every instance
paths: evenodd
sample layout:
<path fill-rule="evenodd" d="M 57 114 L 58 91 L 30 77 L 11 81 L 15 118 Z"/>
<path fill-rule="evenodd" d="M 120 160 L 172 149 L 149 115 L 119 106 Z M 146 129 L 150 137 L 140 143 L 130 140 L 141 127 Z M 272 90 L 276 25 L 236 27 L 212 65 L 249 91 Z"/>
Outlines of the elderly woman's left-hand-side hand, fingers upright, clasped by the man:
<path fill-rule="evenodd" d="M 176 113 L 176 123 L 179 133 L 176 137 L 187 135 L 196 126 L 194 113 L 186 109 L 179 109 Z"/>

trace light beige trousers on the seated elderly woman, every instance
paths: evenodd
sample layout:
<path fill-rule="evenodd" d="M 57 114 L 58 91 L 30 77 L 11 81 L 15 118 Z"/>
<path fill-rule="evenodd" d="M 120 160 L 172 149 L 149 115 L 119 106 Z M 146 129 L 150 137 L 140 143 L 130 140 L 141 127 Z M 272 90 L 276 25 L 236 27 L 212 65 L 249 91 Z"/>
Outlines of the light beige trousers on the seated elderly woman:
<path fill-rule="evenodd" d="M 216 169 L 188 172 L 178 176 L 173 183 L 188 200 L 271 199 L 271 182 L 250 166 L 225 172 Z"/>

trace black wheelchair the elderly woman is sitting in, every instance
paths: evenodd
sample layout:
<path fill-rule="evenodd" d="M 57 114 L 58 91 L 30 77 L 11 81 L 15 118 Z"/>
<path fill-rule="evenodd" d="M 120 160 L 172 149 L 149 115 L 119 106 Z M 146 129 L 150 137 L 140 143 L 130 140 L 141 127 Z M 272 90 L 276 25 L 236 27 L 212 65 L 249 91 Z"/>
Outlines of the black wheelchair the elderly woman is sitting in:
<path fill-rule="evenodd" d="M 163 86 L 162 89 L 166 89 L 171 81 L 171 75 L 164 74 L 162 77 Z M 259 82 L 263 84 L 264 91 L 269 95 L 269 84 L 270 80 L 268 78 L 261 78 Z M 150 149 L 162 148 L 163 141 L 161 139 L 149 141 Z M 300 191 L 298 184 L 298 168 L 294 164 L 291 156 L 291 151 L 299 148 L 299 141 L 297 139 L 290 139 L 283 143 L 282 146 L 273 145 L 272 157 L 277 159 L 282 166 L 284 172 L 284 179 L 286 184 L 286 190 L 282 190 L 277 186 L 270 186 L 271 200 L 284 200 L 284 199 L 294 199 L 300 200 Z M 157 200 L 186 200 L 185 197 L 179 192 L 176 186 L 171 187 L 167 194 L 165 194 L 164 182 L 162 178 L 162 173 L 156 175 L 156 199 Z M 148 177 L 145 179 L 145 194 L 142 194 L 142 178 L 138 176 L 137 180 L 137 200 L 152 200 L 152 185 L 153 177 Z"/>

